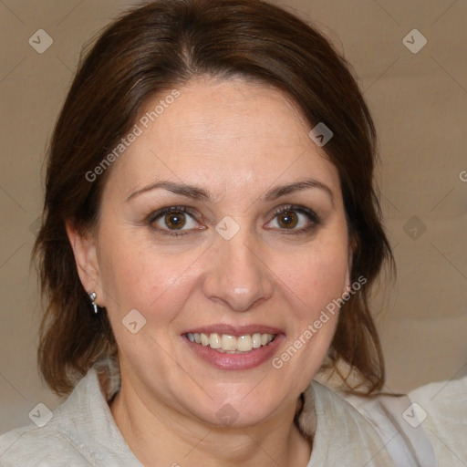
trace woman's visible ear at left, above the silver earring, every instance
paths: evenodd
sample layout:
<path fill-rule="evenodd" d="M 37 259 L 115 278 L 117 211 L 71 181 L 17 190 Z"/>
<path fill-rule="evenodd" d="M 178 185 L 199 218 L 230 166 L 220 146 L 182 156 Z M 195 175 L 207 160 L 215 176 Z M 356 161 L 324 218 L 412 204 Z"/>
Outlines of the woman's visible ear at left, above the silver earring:
<path fill-rule="evenodd" d="M 84 234 L 79 231 L 72 221 L 66 222 L 67 236 L 75 261 L 77 264 L 79 279 L 88 294 L 96 292 L 96 303 L 105 306 L 104 295 L 100 286 L 100 273 L 97 243 L 92 234 Z"/>

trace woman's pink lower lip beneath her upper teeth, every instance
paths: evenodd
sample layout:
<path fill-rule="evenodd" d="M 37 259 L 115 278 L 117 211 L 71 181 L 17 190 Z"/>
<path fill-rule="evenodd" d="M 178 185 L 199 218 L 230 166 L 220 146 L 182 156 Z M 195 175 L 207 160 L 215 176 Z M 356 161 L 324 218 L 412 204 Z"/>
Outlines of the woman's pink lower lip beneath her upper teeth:
<path fill-rule="evenodd" d="M 273 357 L 284 337 L 283 334 L 278 334 L 267 346 L 254 348 L 243 354 L 228 354 L 218 352 L 209 346 L 196 344 L 186 335 L 182 336 L 183 340 L 198 357 L 219 369 L 251 369 L 259 367 Z"/>

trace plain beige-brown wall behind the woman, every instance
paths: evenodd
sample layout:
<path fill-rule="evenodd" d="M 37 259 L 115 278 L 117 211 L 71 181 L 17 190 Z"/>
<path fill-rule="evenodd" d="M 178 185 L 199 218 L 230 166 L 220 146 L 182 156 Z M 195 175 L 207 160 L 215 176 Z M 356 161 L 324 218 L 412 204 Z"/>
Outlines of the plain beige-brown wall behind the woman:
<path fill-rule="evenodd" d="M 37 403 L 53 410 L 59 402 L 36 371 L 39 309 L 29 254 L 41 161 L 82 45 L 127 5 L 0 0 L 0 432 L 28 423 Z M 379 129 L 382 205 L 399 269 L 396 285 L 375 299 L 387 389 L 459 378 L 467 369 L 467 2 L 287 5 L 348 57 Z M 417 54 L 402 42 L 414 28 L 428 40 Z M 43 54 L 28 44 L 38 29 L 54 41 Z"/>

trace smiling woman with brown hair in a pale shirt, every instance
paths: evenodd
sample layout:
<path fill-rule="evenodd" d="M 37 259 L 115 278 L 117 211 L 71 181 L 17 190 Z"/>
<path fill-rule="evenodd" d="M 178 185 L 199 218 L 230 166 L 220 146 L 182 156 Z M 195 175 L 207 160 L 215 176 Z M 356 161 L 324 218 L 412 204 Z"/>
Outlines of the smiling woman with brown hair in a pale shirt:
<path fill-rule="evenodd" d="M 344 59 L 275 5 L 110 25 L 57 121 L 35 249 L 39 364 L 71 395 L 1 465 L 451 465 L 432 441 L 462 432 L 421 419 L 459 405 L 377 396 L 375 146 Z"/>

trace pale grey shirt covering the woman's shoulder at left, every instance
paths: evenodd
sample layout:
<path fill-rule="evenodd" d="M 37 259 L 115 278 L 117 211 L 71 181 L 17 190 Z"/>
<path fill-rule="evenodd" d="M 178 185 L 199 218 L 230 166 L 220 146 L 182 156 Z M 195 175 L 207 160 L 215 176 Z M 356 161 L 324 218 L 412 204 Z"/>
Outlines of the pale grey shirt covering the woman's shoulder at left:
<path fill-rule="evenodd" d="M 98 374 L 92 368 L 57 410 L 38 407 L 36 415 L 35 423 L 0 437 L 0 466 L 117 465 L 115 459 L 125 455 L 129 461 L 125 465 L 135 464 L 112 425 Z"/>

